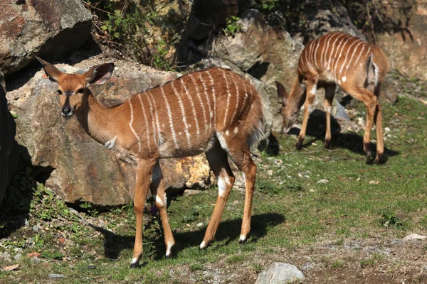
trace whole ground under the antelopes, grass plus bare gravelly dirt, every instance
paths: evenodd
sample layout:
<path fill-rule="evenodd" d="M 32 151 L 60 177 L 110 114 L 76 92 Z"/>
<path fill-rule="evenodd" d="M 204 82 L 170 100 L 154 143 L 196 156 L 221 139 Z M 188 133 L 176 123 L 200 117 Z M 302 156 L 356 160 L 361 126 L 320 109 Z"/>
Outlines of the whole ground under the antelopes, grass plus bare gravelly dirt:
<path fill-rule="evenodd" d="M 352 121 L 364 119 L 362 106 L 354 106 Z M 199 244 L 216 187 L 169 198 L 176 256 L 164 258 L 158 217 L 147 214 L 143 265 L 134 270 L 129 268 L 135 234 L 131 206 L 75 212 L 37 187 L 31 169 L 21 168 L 26 180 L 17 178 L 15 185 L 21 180 L 36 189 L 26 226 L 16 225 L 22 220 L 10 217 L 13 212 L 0 219 L 6 232 L 0 268 L 19 265 L 0 271 L 0 282 L 254 283 L 269 263 L 283 261 L 302 269 L 304 283 L 426 283 L 426 240 L 403 238 L 427 235 L 427 108 L 399 97 L 384 106 L 383 121 L 389 128 L 384 165 L 366 163 L 363 131 L 334 133 L 332 151 L 325 151 L 324 132 L 316 131 L 315 121 L 302 151 L 295 151 L 296 136 L 290 135 L 278 136 L 278 155 L 255 153 L 258 180 L 247 244 L 238 244 L 242 180 L 206 251 Z M 11 230 L 14 224 L 19 229 Z M 52 273 L 63 278 L 49 278 Z"/>

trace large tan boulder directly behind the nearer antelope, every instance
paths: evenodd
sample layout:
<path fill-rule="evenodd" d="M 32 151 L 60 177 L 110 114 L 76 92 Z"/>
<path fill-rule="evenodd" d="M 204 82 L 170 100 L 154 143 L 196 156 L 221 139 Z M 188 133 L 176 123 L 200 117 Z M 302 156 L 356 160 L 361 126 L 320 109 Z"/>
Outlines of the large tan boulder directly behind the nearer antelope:
<path fill-rule="evenodd" d="M 92 88 L 95 97 L 107 105 L 123 102 L 147 87 L 179 77 L 176 72 L 159 72 L 130 62 L 115 62 L 110 81 Z M 65 72 L 83 72 L 105 60 L 92 58 L 74 66 L 56 65 Z M 8 92 L 11 111 L 18 115 L 17 141 L 28 149 L 33 165 L 54 168 L 46 185 L 68 202 L 93 202 L 102 205 L 132 201 L 135 173 L 132 166 L 95 142 L 75 117 L 60 116 L 56 83 L 43 70 L 26 84 L 15 82 Z M 19 87 L 22 86 L 22 87 Z M 209 165 L 204 155 L 182 160 L 162 160 L 169 189 L 206 188 L 210 183 Z"/>

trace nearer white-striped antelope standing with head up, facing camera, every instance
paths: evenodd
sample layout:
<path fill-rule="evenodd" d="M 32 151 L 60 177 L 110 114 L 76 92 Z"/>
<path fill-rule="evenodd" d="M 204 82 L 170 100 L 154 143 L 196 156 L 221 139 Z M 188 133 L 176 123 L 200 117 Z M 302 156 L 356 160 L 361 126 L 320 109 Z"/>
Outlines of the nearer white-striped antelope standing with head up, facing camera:
<path fill-rule="evenodd" d="M 256 165 L 249 152 L 263 133 L 259 94 L 241 76 L 221 68 L 193 72 L 159 87 L 134 94 L 117 107 L 99 104 L 88 87 L 110 79 L 113 63 L 92 67 L 84 74 L 65 74 L 38 60 L 58 83 L 60 113 L 75 114 L 83 129 L 97 142 L 135 164 L 137 231 L 131 268 L 142 256 L 142 215 L 150 189 L 159 209 L 166 256 L 175 244 L 167 216 L 167 200 L 159 167 L 161 158 L 206 153 L 218 180 L 218 199 L 200 249 L 214 240 L 234 176 L 227 155 L 243 173 L 246 185 L 240 241 L 248 239 Z"/>

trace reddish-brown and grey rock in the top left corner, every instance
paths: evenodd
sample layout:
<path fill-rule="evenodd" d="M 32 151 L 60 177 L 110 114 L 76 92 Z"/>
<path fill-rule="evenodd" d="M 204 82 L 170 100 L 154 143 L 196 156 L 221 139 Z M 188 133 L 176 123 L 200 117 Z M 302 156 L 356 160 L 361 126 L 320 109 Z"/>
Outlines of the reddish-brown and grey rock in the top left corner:
<path fill-rule="evenodd" d="M 80 0 L 0 1 L 0 67 L 4 74 L 28 65 L 36 54 L 47 60 L 80 48 L 92 16 Z"/>

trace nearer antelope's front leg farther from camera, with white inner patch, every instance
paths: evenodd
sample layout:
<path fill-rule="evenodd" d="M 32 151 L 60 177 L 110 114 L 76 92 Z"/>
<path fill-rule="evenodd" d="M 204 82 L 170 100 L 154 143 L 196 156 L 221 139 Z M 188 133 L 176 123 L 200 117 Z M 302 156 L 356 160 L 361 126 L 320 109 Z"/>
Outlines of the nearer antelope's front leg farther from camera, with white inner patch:
<path fill-rule="evenodd" d="M 167 216 L 167 199 L 166 188 L 164 187 L 163 173 L 159 162 L 153 170 L 152 185 L 150 186 L 152 196 L 156 201 L 156 207 L 159 209 L 160 218 L 162 219 L 164 244 L 166 245 L 166 257 L 172 255 L 172 247 L 175 245 L 174 234 L 172 234 L 171 225 Z"/>

